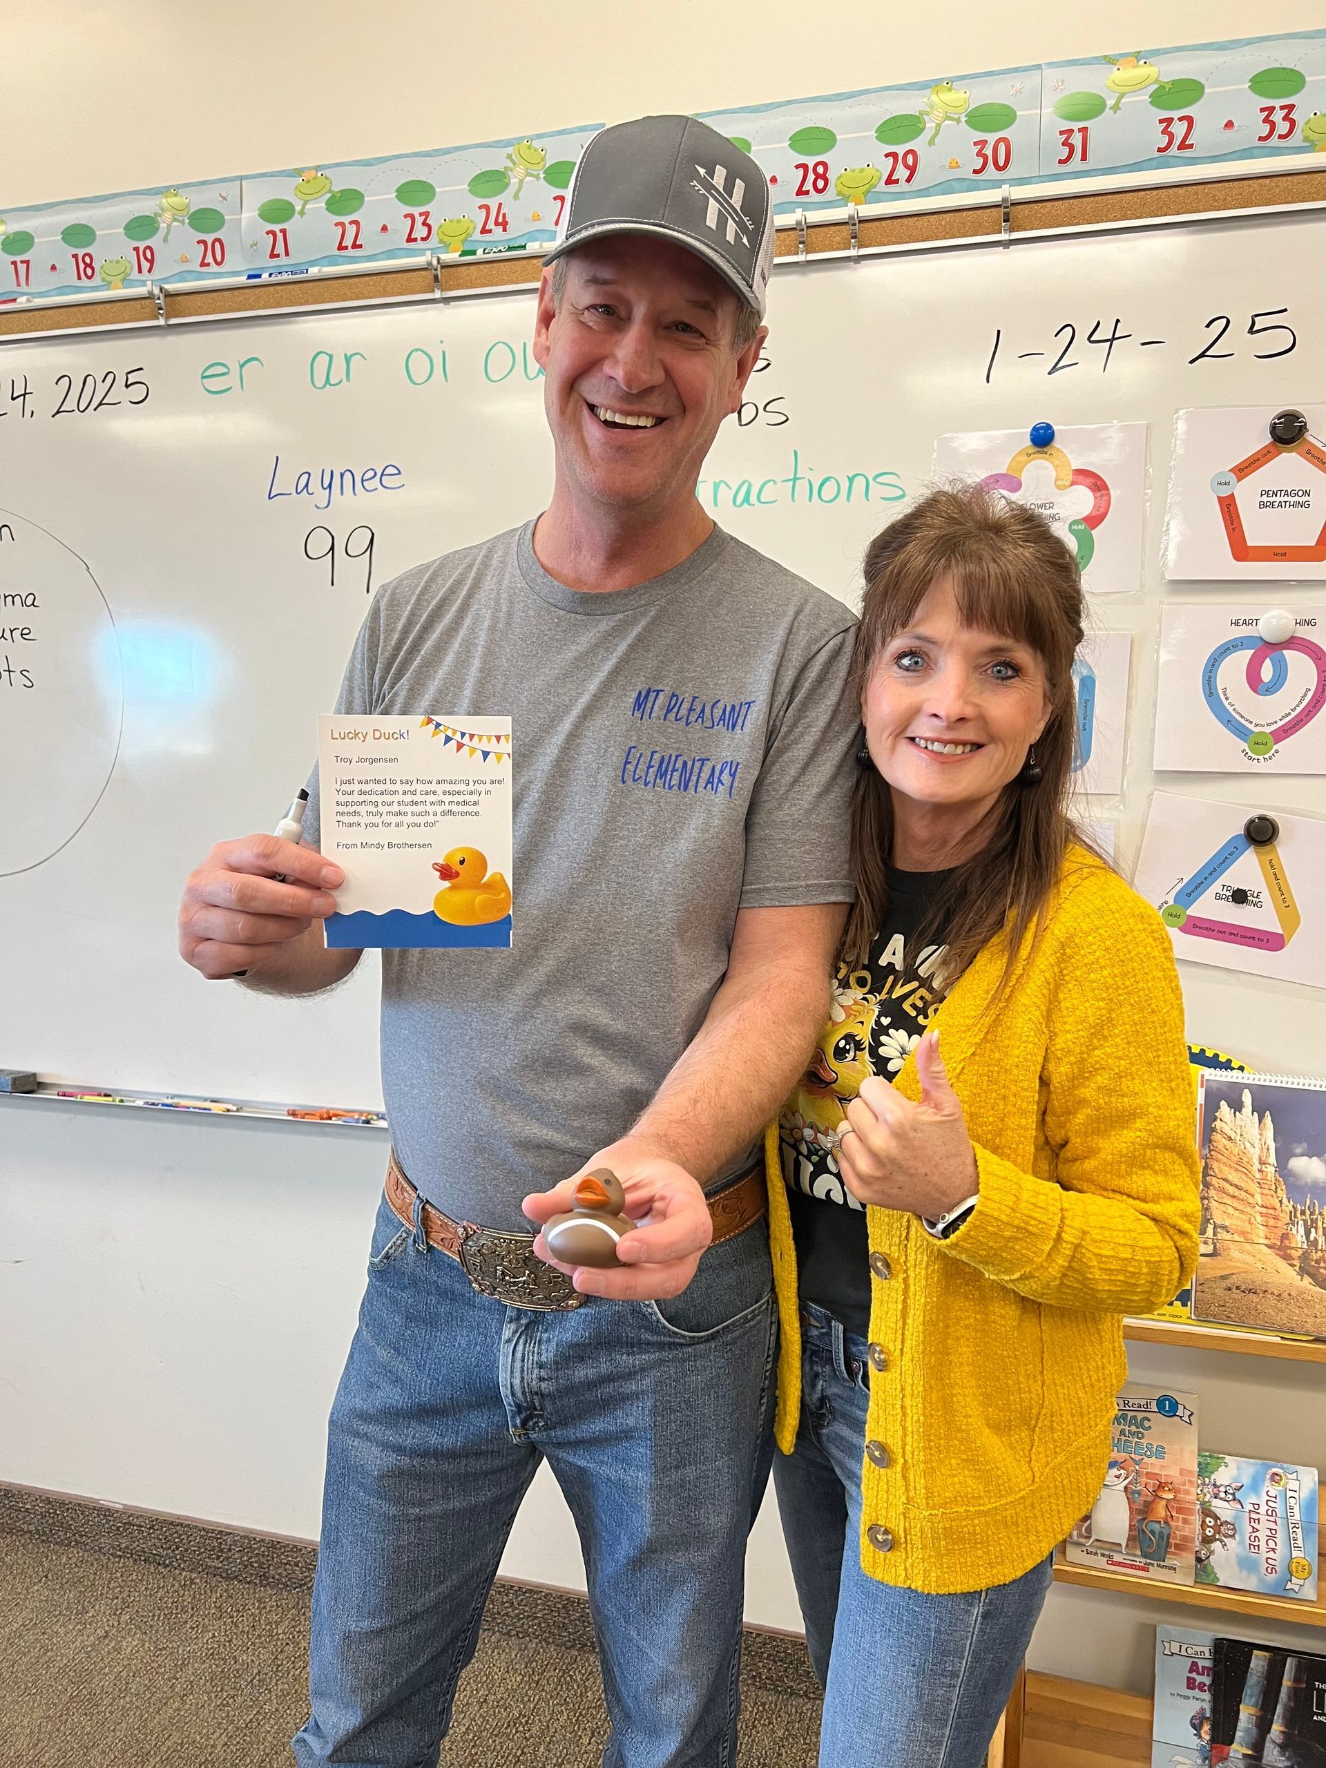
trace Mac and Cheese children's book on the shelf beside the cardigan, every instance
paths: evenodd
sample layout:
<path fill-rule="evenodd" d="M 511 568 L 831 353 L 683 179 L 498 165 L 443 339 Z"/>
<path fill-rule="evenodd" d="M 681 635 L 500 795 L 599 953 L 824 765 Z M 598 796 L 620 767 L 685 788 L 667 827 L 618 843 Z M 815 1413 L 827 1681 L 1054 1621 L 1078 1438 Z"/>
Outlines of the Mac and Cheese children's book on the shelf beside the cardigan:
<path fill-rule="evenodd" d="M 1192 1584 L 1195 1552 L 1197 1395 L 1130 1381 L 1114 1413 L 1105 1483 L 1064 1542 L 1064 1558 Z"/>

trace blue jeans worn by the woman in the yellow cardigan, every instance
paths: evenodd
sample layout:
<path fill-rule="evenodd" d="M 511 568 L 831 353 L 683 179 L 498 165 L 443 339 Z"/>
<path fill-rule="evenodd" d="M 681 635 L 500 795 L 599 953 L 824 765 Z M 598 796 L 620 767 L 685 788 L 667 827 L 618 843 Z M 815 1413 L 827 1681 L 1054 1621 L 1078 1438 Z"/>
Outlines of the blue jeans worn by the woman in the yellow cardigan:
<path fill-rule="evenodd" d="M 930 1597 L 861 1570 L 866 1342 L 803 1307 L 801 1427 L 774 1466 L 806 1644 L 824 1685 L 822 1768 L 976 1768 L 1013 1690 L 1050 1559 L 1011 1584 Z"/>

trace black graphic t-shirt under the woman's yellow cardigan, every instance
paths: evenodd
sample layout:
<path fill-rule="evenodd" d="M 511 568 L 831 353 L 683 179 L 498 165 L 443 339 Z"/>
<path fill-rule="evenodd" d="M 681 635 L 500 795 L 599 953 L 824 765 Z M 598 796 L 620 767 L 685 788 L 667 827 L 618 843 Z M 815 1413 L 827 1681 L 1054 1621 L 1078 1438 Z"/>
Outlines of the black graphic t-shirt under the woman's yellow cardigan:
<path fill-rule="evenodd" d="M 889 866 L 884 926 L 861 969 L 838 965 L 829 1022 L 778 1126 L 801 1299 L 857 1338 L 870 1331 L 866 1211 L 838 1170 L 838 1135 L 861 1082 L 893 1080 L 939 1010 L 934 972 L 944 948 L 916 951 L 912 935 L 946 879 L 948 872 Z"/>

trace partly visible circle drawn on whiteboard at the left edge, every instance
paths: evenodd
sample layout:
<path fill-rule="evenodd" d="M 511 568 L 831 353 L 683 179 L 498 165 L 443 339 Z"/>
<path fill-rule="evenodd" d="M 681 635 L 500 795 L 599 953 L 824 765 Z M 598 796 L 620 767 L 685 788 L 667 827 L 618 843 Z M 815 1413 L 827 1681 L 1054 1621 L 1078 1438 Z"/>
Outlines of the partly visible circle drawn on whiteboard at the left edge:
<path fill-rule="evenodd" d="M 67 847 L 110 785 L 124 732 L 115 615 L 85 559 L 0 509 L 0 877 Z"/>

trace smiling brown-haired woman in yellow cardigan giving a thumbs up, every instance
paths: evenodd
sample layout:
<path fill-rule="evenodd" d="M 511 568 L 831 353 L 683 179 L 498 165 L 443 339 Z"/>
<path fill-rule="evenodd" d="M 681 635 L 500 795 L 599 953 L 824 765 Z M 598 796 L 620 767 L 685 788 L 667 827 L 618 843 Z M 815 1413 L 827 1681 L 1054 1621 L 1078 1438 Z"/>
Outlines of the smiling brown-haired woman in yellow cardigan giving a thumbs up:
<path fill-rule="evenodd" d="M 1169 935 L 1068 819 L 1080 640 L 1075 562 L 1004 499 L 935 492 L 870 546 L 857 903 L 769 1133 L 824 1768 L 983 1761 L 1105 1475 L 1121 1315 L 1197 1255 Z"/>

